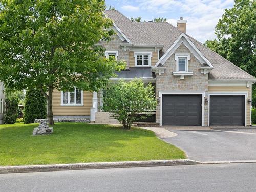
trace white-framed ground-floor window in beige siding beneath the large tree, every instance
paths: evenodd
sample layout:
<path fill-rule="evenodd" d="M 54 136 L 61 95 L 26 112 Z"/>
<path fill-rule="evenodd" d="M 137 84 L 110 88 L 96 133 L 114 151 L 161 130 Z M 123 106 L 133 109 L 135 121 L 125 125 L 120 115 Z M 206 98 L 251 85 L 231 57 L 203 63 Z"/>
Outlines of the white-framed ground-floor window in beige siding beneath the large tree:
<path fill-rule="evenodd" d="M 61 91 L 61 105 L 72 106 L 72 105 L 82 105 L 83 104 L 83 91 L 74 88 L 70 91 Z"/>

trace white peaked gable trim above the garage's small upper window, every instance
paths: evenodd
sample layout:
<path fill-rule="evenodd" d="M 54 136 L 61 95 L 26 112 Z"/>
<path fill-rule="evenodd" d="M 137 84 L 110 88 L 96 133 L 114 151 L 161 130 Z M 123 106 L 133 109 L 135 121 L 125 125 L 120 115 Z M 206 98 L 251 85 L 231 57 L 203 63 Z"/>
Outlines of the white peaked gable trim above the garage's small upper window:
<path fill-rule="evenodd" d="M 184 44 L 191 53 L 199 60 L 201 64 L 206 63 L 209 67 L 213 67 L 211 63 L 206 59 L 206 57 L 199 51 L 199 49 L 193 44 L 193 42 L 187 37 L 185 33 L 176 39 L 174 44 L 169 47 L 169 49 L 164 53 L 164 55 L 158 60 L 154 67 L 157 67 L 160 63 L 164 65 L 167 59 L 175 52 L 175 50 L 181 45 Z"/>

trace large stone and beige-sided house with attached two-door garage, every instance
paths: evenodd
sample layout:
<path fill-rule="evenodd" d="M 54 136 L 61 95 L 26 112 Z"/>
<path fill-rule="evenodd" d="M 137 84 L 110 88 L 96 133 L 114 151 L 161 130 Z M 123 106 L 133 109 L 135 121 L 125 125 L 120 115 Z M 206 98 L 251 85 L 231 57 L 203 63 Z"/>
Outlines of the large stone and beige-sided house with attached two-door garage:
<path fill-rule="evenodd" d="M 251 87 L 256 79 L 186 34 L 186 20 L 177 28 L 167 22 L 134 23 L 116 10 L 105 11 L 114 22 L 113 40 L 101 42 L 106 57 L 125 60 L 119 79 L 153 83 L 158 99 L 155 122 L 176 126 L 251 125 Z M 202 25 L 202 24 L 198 24 Z M 53 94 L 55 118 L 91 118 L 108 123 L 102 112 L 104 92 Z"/>

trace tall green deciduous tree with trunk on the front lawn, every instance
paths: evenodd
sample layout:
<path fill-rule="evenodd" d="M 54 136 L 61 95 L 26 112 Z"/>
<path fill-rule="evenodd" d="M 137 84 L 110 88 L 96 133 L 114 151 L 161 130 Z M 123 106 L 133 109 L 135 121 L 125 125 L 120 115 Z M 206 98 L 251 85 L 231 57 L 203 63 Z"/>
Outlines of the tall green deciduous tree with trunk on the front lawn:
<path fill-rule="evenodd" d="M 97 91 L 120 69 L 94 46 L 113 30 L 101 0 L 0 0 L 0 81 L 35 87 L 46 97 L 53 125 L 53 90 Z"/>

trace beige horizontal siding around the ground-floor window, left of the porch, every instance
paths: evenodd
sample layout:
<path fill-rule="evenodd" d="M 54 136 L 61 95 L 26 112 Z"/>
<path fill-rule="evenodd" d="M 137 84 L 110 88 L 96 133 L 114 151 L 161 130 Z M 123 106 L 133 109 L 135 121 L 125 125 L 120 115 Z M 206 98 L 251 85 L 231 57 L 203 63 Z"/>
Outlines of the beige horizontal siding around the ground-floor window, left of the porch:
<path fill-rule="evenodd" d="M 61 92 L 53 92 L 53 115 L 90 115 L 92 107 L 92 92 L 83 92 L 83 106 L 60 106 Z"/>

